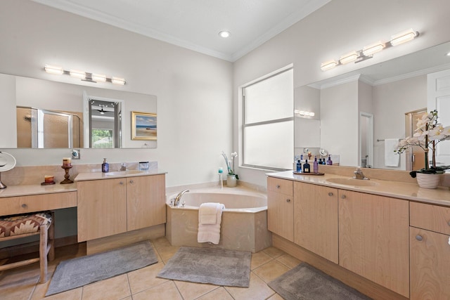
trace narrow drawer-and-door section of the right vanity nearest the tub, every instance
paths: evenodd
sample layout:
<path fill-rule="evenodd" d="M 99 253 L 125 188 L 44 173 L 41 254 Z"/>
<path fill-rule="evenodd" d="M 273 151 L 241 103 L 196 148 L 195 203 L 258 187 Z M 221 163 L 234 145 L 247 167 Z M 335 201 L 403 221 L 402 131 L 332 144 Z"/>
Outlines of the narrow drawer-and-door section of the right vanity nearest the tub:
<path fill-rule="evenodd" d="M 293 181 L 267 178 L 267 228 L 290 242 L 294 241 L 292 187 Z"/>

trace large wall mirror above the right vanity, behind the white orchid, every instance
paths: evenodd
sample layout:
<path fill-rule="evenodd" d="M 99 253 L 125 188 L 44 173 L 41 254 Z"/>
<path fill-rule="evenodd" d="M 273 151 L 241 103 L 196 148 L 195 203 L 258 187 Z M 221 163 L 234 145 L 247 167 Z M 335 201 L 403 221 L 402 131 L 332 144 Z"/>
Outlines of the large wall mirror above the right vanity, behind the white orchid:
<path fill-rule="evenodd" d="M 449 96 L 445 105 L 430 101 L 428 86 L 430 74 L 450 70 L 449 52 L 450 42 L 297 87 L 295 155 L 312 150 L 319 158 L 320 149 L 325 149 L 332 157 L 336 155 L 342 166 L 411 168 L 407 165 L 411 157 L 406 155 L 413 154 L 401 155 L 395 167 L 386 163 L 385 140 L 404 138 L 410 126 L 406 124 L 408 115 L 420 110 L 437 108 L 439 121 L 449 126 L 450 110 L 445 107 L 450 103 L 450 84 L 446 86 Z M 305 125 L 306 120 L 315 125 Z M 306 138 L 305 132 L 314 134 L 314 139 Z M 438 147 L 445 143 L 450 141 Z M 445 159 L 450 153 L 443 153 L 447 146 L 441 147 L 440 163 L 444 165 L 450 164 Z"/>

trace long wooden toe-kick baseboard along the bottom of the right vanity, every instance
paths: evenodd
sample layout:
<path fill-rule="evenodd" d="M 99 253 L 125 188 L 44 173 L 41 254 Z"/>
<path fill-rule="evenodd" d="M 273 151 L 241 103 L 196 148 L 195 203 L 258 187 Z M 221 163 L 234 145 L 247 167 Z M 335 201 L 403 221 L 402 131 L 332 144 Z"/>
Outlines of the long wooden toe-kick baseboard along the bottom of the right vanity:
<path fill-rule="evenodd" d="M 392 292 L 390 289 L 372 282 L 371 280 L 357 275 L 346 268 L 342 268 L 332 261 L 328 261 L 328 259 L 324 259 L 323 257 L 318 256 L 317 254 L 314 254 L 313 252 L 310 252 L 309 250 L 304 249 L 293 242 L 285 240 L 279 235 L 272 234 L 272 244 L 274 247 L 283 250 L 291 256 L 294 256 L 296 259 L 309 263 L 311 266 L 314 266 L 314 268 L 318 268 L 323 273 L 344 282 L 346 285 L 357 289 L 359 292 L 366 294 L 373 299 L 408 299 L 400 294 L 397 294 L 396 292 Z"/>

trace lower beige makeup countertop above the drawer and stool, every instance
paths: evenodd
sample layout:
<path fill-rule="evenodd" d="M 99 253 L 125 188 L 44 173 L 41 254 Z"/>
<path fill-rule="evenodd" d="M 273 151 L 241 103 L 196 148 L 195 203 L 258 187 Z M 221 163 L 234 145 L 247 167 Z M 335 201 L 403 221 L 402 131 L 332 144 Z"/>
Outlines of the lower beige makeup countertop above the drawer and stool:
<path fill-rule="evenodd" d="M 75 191 L 77 191 L 76 183 L 69 183 L 69 184 L 55 183 L 52 185 L 40 185 L 40 184 L 8 185 L 7 188 L 2 188 L 0 190 L 0 198 L 40 195 L 49 193 L 66 193 Z"/>

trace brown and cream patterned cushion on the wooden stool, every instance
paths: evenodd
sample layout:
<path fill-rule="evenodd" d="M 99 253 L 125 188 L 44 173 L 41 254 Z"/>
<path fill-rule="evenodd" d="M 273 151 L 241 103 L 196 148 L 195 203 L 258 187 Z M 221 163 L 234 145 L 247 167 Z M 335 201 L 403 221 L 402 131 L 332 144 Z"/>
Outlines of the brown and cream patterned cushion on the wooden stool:
<path fill-rule="evenodd" d="M 0 237 L 37 233 L 39 226 L 51 223 L 51 213 L 0 216 Z"/>

